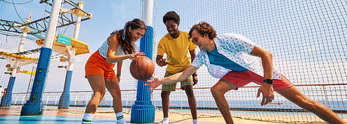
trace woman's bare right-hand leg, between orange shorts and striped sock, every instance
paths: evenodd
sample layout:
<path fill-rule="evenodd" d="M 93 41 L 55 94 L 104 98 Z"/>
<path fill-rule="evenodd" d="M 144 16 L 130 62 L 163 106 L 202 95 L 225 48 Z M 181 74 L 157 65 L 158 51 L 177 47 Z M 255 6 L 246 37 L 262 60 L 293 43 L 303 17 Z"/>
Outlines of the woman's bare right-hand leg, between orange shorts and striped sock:
<path fill-rule="evenodd" d="M 117 78 L 105 79 L 105 86 L 113 98 L 113 109 L 115 113 L 123 112 L 122 99 Z"/>

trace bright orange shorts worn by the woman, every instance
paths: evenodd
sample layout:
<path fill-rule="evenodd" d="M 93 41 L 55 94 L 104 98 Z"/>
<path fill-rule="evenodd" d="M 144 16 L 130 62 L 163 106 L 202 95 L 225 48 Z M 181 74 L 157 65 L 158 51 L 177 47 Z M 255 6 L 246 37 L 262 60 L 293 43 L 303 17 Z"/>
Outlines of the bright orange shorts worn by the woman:
<path fill-rule="evenodd" d="M 89 57 L 84 67 L 86 71 L 85 78 L 92 74 L 102 74 L 105 79 L 117 78 L 113 67 L 115 67 L 115 64 L 107 64 L 106 59 L 100 55 L 99 51 L 96 51 Z"/>

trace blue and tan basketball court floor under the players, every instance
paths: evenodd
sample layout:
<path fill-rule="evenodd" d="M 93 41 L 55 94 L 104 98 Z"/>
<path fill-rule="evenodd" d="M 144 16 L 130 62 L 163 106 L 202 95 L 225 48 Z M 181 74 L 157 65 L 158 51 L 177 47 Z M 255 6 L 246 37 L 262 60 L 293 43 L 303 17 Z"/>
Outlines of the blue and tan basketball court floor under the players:
<path fill-rule="evenodd" d="M 9 107 L 0 107 L 1 124 L 81 124 L 83 113 L 68 113 L 60 110 L 45 110 L 43 115 L 39 116 L 20 116 L 20 110 L 13 110 Z M 170 114 L 170 123 L 172 124 L 192 124 L 190 115 Z M 127 123 L 130 123 L 130 115 L 124 114 Z M 162 111 L 156 111 L 155 121 L 157 124 L 162 121 Z M 247 119 L 233 118 L 235 124 L 278 124 L 271 122 L 261 122 Z M 116 124 L 115 113 L 95 113 L 92 124 Z M 198 118 L 199 124 L 225 124 L 223 117 Z"/>

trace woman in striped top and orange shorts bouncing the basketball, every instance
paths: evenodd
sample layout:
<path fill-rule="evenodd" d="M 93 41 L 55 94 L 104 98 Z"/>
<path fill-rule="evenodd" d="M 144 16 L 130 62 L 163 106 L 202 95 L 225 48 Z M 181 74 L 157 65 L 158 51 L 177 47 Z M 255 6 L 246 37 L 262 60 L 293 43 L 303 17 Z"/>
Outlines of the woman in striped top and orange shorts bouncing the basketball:
<path fill-rule="evenodd" d="M 135 44 L 147 31 L 145 23 L 140 19 L 128 21 L 124 29 L 116 30 L 105 40 L 102 46 L 94 52 L 85 65 L 85 77 L 94 92 L 88 103 L 82 124 L 90 124 L 100 101 L 105 95 L 105 87 L 113 98 L 117 123 L 126 124 L 123 117 L 122 100 L 119 88 L 123 60 L 134 59 L 144 55 L 136 53 Z M 117 74 L 113 67 L 117 63 Z"/>

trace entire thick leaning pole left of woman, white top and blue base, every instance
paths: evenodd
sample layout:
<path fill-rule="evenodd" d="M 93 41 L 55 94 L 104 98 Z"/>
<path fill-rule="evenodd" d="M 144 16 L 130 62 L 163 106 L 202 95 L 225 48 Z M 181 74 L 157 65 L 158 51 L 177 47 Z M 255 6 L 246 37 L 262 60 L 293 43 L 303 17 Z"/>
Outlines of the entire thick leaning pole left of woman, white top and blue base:
<path fill-rule="evenodd" d="M 56 28 L 58 24 L 58 17 L 60 12 L 62 0 L 53 0 L 51 14 L 48 22 L 46 35 L 44 38 L 43 46 L 41 47 L 41 53 L 39 62 L 37 62 L 36 74 L 31 89 L 29 100 L 26 101 L 22 107 L 21 116 L 42 115 L 42 95 L 46 85 L 46 78 L 49 63 L 51 61 L 52 46 L 54 38 L 56 37 Z"/>

